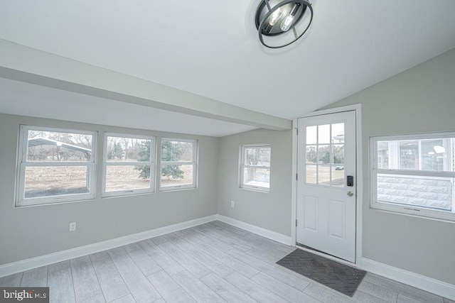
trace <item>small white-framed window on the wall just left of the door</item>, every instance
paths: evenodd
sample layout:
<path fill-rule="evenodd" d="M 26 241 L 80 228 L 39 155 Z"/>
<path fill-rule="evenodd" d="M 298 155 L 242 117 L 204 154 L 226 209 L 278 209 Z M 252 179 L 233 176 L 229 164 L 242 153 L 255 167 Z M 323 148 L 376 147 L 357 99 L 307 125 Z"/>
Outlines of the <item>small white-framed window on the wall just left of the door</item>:
<path fill-rule="evenodd" d="M 242 145 L 240 187 L 269 192 L 271 149 L 271 145 Z"/>

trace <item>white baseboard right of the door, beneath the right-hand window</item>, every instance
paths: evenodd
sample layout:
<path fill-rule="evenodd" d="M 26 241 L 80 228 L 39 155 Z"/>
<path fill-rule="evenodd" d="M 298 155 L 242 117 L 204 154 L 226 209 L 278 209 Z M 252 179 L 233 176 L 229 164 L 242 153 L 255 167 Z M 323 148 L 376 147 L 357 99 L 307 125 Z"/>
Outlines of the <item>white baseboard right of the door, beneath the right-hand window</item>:
<path fill-rule="evenodd" d="M 362 269 L 455 300 L 455 285 L 367 258 L 362 258 Z"/>

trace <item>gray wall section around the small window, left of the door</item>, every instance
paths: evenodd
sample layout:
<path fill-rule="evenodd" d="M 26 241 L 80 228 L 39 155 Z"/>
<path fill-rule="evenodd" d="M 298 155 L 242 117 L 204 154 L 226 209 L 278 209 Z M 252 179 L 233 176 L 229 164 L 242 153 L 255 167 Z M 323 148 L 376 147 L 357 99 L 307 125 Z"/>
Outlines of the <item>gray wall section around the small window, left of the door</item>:
<path fill-rule="evenodd" d="M 268 193 L 240 189 L 240 145 L 257 143 L 272 145 Z M 291 131 L 264 129 L 221 138 L 218 214 L 291 236 L 291 143 Z"/>

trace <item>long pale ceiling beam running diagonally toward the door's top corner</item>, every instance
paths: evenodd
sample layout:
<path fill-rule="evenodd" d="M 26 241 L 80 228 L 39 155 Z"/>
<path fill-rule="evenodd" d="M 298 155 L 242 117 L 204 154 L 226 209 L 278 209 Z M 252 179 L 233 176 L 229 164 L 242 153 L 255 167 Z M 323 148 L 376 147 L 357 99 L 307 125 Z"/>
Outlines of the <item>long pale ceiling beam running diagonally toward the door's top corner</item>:
<path fill-rule="evenodd" d="M 0 77 L 282 131 L 291 121 L 0 39 Z"/>

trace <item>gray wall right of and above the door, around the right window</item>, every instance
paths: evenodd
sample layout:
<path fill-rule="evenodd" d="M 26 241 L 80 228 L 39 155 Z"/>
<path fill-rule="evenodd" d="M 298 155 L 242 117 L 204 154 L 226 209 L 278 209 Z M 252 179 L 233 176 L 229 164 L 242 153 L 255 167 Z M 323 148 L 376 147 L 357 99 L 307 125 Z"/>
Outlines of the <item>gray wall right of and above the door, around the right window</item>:
<path fill-rule="evenodd" d="M 363 114 L 363 257 L 455 285 L 455 223 L 370 209 L 368 171 L 371 136 L 455 131 L 455 50 L 328 107 L 348 104 Z"/>

